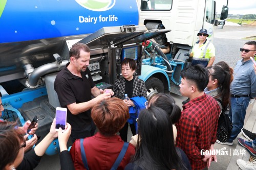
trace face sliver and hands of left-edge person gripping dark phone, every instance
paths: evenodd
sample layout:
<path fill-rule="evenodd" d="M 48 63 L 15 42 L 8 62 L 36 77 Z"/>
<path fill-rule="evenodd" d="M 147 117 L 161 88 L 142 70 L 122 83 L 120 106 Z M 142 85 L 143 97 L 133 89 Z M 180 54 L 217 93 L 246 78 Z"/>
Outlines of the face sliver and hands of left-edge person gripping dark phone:
<path fill-rule="evenodd" d="M 0 117 L 2 116 L 2 112 L 5 110 L 3 104 L 2 104 L 2 93 L 0 92 Z M 4 122 L 3 119 L 0 119 L 0 122 Z M 33 145 L 37 142 L 37 136 L 35 134 L 37 128 L 38 128 L 38 124 L 36 123 L 34 125 L 34 127 L 32 129 L 30 129 L 30 132 L 27 132 L 29 127 L 31 125 L 30 120 L 28 120 L 27 122 L 25 122 L 25 125 L 23 127 L 18 127 L 20 130 L 23 131 L 24 138 L 27 139 L 29 135 L 33 135 L 33 137 L 31 139 L 26 140 L 26 147 L 25 147 L 25 152 L 29 151 Z"/>

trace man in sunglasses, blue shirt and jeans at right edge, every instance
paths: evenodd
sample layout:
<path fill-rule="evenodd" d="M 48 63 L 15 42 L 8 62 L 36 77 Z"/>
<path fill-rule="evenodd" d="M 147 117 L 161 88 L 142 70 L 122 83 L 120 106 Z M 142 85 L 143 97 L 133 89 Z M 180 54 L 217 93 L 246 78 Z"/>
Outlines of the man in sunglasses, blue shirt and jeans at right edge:
<path fill-rule="evenodd" d="M 248 41 L 240 48 L 242 59 L 234 67 L 234 79 L 230 85 L 230 110 L 233 129 L 227 142 L 220 144 L 232 145 L 233 140 L 244 126 L 246 109 L 251 99 L 256 97 L 256 75 L 250 57 L 256 55 L 256 41 Z"/>

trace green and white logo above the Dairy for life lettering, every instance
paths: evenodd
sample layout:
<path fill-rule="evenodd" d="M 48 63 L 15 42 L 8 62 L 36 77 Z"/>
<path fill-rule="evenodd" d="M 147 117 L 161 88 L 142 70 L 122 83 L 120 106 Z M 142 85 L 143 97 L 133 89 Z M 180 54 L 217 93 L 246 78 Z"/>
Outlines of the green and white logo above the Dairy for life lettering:
<path fill-rule="evenodd" d="M 115 5 L 116 0 L 76 0 L 76 2 L 91 11 L 107 11 Z"/>

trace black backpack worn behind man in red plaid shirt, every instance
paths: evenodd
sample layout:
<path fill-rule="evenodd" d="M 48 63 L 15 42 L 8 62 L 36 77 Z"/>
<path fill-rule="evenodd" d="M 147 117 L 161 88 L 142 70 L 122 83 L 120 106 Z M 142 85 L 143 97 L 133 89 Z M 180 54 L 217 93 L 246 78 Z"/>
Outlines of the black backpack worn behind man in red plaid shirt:
<path fill-rule="evenodd" d="M 215 99 L 215 100 L 220 102 L 222 106 L 222 101 L 220 99 Z M 228 107 L 224 108 L 222 106 L 221 114 L 218 120 L 217 139 L 221 142 L 226 142 L 230 138 L 232 128 L 233 128 L 232 122 L 228 117 L 228 114 L 225 114 L 225 111 L 227 109 Z"/>

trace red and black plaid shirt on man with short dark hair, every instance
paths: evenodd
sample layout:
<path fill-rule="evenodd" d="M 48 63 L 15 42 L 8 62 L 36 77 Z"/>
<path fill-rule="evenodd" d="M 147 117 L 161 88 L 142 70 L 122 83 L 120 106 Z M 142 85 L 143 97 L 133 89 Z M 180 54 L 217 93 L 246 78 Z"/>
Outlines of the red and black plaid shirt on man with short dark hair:
<path fill-rule="evenodd" d="M 201 150 L 209 150 L 216 142 L 218 118 L 221 110 L 214 98 L 202 95 L 183 105 L 177 126 L 176 145 L 187 155 L 192 169 L 203 169 Z"/>

